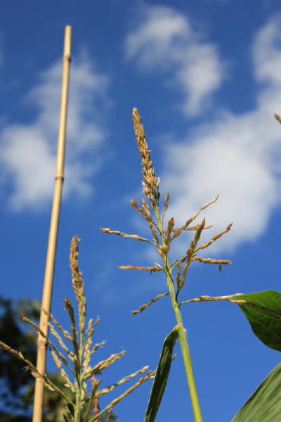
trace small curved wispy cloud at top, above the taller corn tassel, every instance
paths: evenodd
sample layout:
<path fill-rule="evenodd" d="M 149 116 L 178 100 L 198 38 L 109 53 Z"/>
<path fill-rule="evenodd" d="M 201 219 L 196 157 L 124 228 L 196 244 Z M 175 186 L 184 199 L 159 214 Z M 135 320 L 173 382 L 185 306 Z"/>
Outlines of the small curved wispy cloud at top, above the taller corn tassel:
<path fill-rule="evenodd" d="M 223 79 L 216 46 L 202 40 L 188 18 L 173 8 L 145 6 L 143 12 L 144 22 L 126 38 L 126 56 L 142 69 L 168 72 L 183 89 L 184 112 L 202 113 Z"/>

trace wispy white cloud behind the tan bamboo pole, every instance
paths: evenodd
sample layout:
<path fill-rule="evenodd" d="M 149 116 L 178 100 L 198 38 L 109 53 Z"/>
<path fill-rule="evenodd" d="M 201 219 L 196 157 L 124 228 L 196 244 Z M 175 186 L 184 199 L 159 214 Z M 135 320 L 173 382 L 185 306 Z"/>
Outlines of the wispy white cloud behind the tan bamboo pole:
<path fill-rule="evenodd" d="M 60 108 L 61 63 L 43 72 L 39 84 L 25 101 L 39 109 L 31 124 L 10 124 L 1 129 L 1 181 L 10 178 L 13 209 L 44 206 L 53 192 L 55 154 Z M 93 68 L 86 54 L 70 70 L 70 101 L 67 117 L 65 196 L 93 191 L 90 178 L 100 165 L 93 152 L 105 132 L 96 122 L 100 104 L 107 101 L 107 79 Z M 91 159 L 91 162 L 90 162 Z"/>

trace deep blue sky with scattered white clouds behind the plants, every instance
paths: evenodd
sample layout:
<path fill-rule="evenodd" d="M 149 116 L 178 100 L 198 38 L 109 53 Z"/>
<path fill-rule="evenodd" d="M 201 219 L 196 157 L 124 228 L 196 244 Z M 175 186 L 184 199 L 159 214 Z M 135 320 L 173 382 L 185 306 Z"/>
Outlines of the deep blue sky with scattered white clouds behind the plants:
<path fill-rule="evenodd" d="M 208 256 L 230 259 L 222 274 L 194 263 L 182 300 L 280 286 L 281 7 L 275 0 L 3 1 L 0 15 L 1 295 L 41 298 L 53 191 L 61 54 L 73 27 L 64 200 L 53 313 L 66 322 L 70 238 L 78 234 L 89 316 L 100 316 L 96 359 L 127 350 L 105 385 L 155 367 L 174 326 L 159 274 L 121 271 L 150 265 L 142 243 L 107 236 L 107 226 L 148 234 L 129 200 L 141 198 L 131 109 L 144 117 L 169 215 L 181 224 L 217 193 L 203 215 L 209 236 L 233 222 Z M 181 256 L 188 238 L 175 245 Z M 139 274 L 140 273 L 140 274 Z M 183 309 L 204 421 L 230 421 L 280 362 L 259 343 L 236 305 Z M 180 350 L 157 421 L 192 420 Z M 116 408 L 141 422 L 150 385 Z M 190 416 L 189 416 L 190 415 Z"/>

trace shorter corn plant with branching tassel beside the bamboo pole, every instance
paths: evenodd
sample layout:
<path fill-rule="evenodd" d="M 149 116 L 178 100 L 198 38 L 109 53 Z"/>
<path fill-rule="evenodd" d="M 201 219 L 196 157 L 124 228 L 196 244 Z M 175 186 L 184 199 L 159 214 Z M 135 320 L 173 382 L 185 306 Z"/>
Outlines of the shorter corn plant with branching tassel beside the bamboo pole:
<path fill-rule="evenodd" d="M 72 301 L 65 298 L 65 309 L 70 318 L 70 330 L 67 331 L 60 323 L 49 314 L 50 321 L 48 322 L 51 335 L 44 335 L 39 326 L 31 321 L 29 318 L 24 317 L 23 320 L 27 322 L 37 333 L 41 333 L 46 340 L 46 344 L 51 350 L 53 362 L 60 372 L 60 379 L 63 379 L 63 388 L 60 383 L 55 383 L 55 379 L 48 376 L 46 373 L 39 373 L 22 353 L 13 350 L 11 347 L 0 341 L 1 347 L 10 352 L 15 357 L 25 362 L 25 369 L 29 370 L 34 378 L 38 378 L 48 390 L 54 392 L 62 397 L 65 402 L 65 412 L 63 418 L 65 421 L 70 422 L 101 422 L 110 421 L 112 416 L 112 407 L 119 403 L 124 397 L 129 395 L 130 392 L 135 390 L 139 385 L 153 378 L 155 371 L 150 371 L 148 366 L 131 373 L 119 381 L 100 388 L 101 378 L 100 374 L 108 366 L 112 365 L 118 359 L 123 357 L 125 351 L 111 354 L 107 359 L 103 359 L 96 364 L 91 364 L 92 355 L 102 347 L 105 342 L 92 343 L 93 333 L 98 324 L 98 319 L 93 321 L 89 319 L 86 323 L 86 297 L 84 293 L 84 280 L 82 279 L 81 271 L 78 266 L 78 241 L 79 238 L 74 236 L 72 238 L 70 247 L 70 268 L 72 274 L 72 288 L 77 300 L 77 313 L 74 312 Z M 76 321 L 78 319 L 78 321 Z M 138 381 L 134 383 L 129 389 L 125 390 L 121 395 L 117 396 L 109 402 L 103 409 L 100 409 L 99 399 L 101 396 L 111 392 L 119 385 L 127 383 L 131 378 L 144 374 Z M 105 416 L 105 419 L 103 418 Z"/>

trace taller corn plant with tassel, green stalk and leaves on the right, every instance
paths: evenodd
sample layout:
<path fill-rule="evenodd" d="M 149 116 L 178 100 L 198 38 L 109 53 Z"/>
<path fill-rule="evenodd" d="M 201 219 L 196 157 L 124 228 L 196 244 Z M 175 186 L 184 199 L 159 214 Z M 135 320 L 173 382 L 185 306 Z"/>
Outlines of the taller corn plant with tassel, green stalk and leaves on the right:
<path fill-rule="evenodd" d="M 204 218 L 201 222 L 195 224 L 195 219 L 197 219 L 202 210 L 205 210 L 211 204 L 216 202 L 218 199 L 218 196 L 216 196 L 214 200 L 211 200 L 211 202 L 207 203 L 207 205 L 202 206 L 200 210 L 195 213 L 195 215 L 192 215 L 192 217 L 186 219 L 185 224 L 182 226 L 176 226 L 174 217 L 171 217 L 166 222 L 166 224 L 164 224 L 164 216 L 166 210 L 169 207 L 169 193 L 166 193 L 164 196 L 164 201 L 161 203 L 159 191 L 160 179 L 155 175 L 155 169 L 150 158 L 151 151 L 148 148 L 144 127 L 141 122 L 141 115 L 137 108 L 133 108 L 132 117 L 138 152 L 141 155 L 143 194 L 147 199 L 142 199 L 141 206 L 138 205 L 136 200 L 133 199 L 130 201 L 130 203 L 133 209 L 138 211 L 138 213 L 141 214 L 141 216 L 145 219 L 150 228 L 152 236 L 151 238 L 143 238 L 142 236 L 138 236 L 138 234 L 126 234 L 122 231 L 108 228 L 103 228 L 101 231 L 106 234 L 116 234 L 125 238 L 131 238 L 137 241 L 150 243 L 150 245 L 156 248 L 160 263 L 155 262 L 155 264 L 150 267 L 141 267 L 138 265 L 122 265 L 119 266 L 119 268 L 150 271 L 150 273 L 162 271 L 164 274 L 164 279 L 166 280 L 168 291 L 157 295 L 156 298 L 152 298 L 148 303 L 141 305 L 140 309 L 132 311 L 132 314 L 143 312 L 146 308 L 152 305 L 152 303 L 157 302 L 157 300 L 160 298 L 169 295 L 171 307 L 174 310 L 174 316 L 176 319 L 176 326 L 164 340 L 155 380 L 153 381 L 150 398 L 148 400 L 148 407 L 145 412 L 144 422 L 153 422 L 155 420 L 169 376 L 171 359 L 173 357 L 173 348 L 177 340 L 179 340 L 181 345 L 181 354 L 183 357 L 185 375 L 190 392 L 194 420 L 195 422 L 202 422 L 200 402 L 198 399 L 195 377 L 192 370 L 190 347 L 188 345 L 186 329 L 183 325 L 181 307 L 188 302 L 204 302 L 209 300 L 228 300 L 229 302 L 235 302 L 242 309 L 242 312 L 244 312 L 244 314 L 247 316 L 247 319 L 250 322 L 254 333 L 258 335 L 263 343 L 266 343 L 266 345 L 273 347 L 276 350 L 281 350 L 281 293 L 268 290 L 267 292 L 250 293 L 248 295 L 236 293 L 234 295 L 224 295 L 215 298 L 202 295 L 200 298 L 194 298 L 192 300 L 179 300 L 179 295 L 185 286 L 185 279 L 188 275 L 190 264 L 192 264 L 192 262 L 216 264 L 220 270 L 223 265 L 228 265 L 231 263 L 230 260 L 218 260 L 209 257 L 201 257 L 200 252 L 208 248 L 212 243 L 221 238 L 221 236 L 228 234 L 232 223 L 228 224 L 225 230 L 211 237 L 209 241 L 200 243 L 202 231 L 209 229 L 211 226 L 206 224 Z M 279 119 L 279 121 L 281 122 L 281 119 Z M 178 238 L 186 231 L 191 231 L 193 233 L 192 240 L 190 241 L 188 248 L 183 253 L 183 256 L 178 257 L 176 260 L 171 262 L 169 259 L 171 243 L 174 241 L 174 239 Z M 263 381 L 263 383 L 259 386 L 258 390 L 256 390 L 259 391 L 259 399 L 256 399 L 256 392 L 254 392 L 254 395 L 250 397 L 244 407 L 242 407 L 241 411 L 238 412 L 238 414 L 235 416 L 233 422 L 280 421 L 281 389 L 275 389 L 276 394 L 271 395 L 270 399 L 268 399 L 268 382 L 270 381 L 271 383 L 271 380 L 273 379 L 275 383 L 274 388 L 276 385 L 279 387 L 281 386 L 281 364 L 277 366 L 273 370 L 273 373 L 270 373 L 268 377 L 269 378 L 266 378 L 266 380 Z M 275 405 L 276 399 L 279 400 L 279 407 L 276 407 Z M 266 409 L 267 413 L 263 411 L 261 414 L 259 410 L 256 410 L 261 406 L 261 403 L 263 404 L 263 409 Z M 265 418 L 266 414 L 270 415 L 270 418 Z"/>

